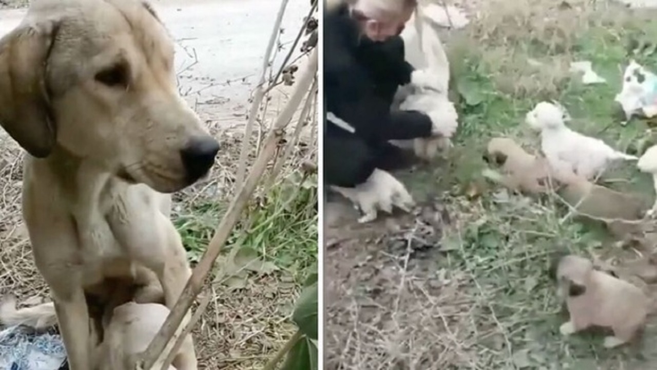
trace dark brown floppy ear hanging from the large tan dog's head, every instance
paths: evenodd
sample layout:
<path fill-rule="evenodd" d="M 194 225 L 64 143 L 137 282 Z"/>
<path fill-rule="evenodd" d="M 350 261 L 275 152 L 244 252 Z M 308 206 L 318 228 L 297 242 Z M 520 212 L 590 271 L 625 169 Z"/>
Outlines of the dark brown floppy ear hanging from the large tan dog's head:
<path fill-rule="evenodd" d="M 58 23 L 23 24 L 0 39 L 0 125 L 34 157 L 56 140 L 46 69 Z"/>

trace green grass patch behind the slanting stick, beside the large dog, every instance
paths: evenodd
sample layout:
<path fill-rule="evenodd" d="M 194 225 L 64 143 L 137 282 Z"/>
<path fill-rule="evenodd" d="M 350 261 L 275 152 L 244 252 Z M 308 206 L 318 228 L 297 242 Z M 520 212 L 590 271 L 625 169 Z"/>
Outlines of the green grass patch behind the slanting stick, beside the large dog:
<path fill-rule="evenodd" d="M 191 262 L 198 262 L 227 204 L 210 199 L 194 203 L 174 219 Z M 231 248 L 248 246 L 266 261 L 302 281 L 317 263 L 317 176 L 294 172 L 251 201 L 229 238 Z"/>

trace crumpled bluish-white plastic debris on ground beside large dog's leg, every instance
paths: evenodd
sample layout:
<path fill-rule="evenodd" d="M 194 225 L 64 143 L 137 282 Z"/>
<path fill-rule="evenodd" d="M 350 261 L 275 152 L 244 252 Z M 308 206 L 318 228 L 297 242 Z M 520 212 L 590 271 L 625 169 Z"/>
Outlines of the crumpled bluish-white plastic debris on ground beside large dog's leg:
<path fill-rule="evenodd" d="M 0 369 L 58 370 L 66 350 L 57 334 L 35 333 L 23 327 L 0 331 Z"/>

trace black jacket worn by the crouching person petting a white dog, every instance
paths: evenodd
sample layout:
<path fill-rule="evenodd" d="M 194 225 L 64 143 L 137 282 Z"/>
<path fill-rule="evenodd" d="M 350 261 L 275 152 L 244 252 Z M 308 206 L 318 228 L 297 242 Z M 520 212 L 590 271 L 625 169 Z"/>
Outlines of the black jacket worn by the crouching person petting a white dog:
<path fill-rule="evenodd" d="M 370 144 L 431 135 L 432 122 L 423 113 L 390 111 L 397 88 L 408 84 L 413 72 L 401 37 L 383 42 L 362 37 L 346 5 L 325 13 L 324 30 L 325 111 Z M 328 124 L 327 130 L 340 128 Z"/>

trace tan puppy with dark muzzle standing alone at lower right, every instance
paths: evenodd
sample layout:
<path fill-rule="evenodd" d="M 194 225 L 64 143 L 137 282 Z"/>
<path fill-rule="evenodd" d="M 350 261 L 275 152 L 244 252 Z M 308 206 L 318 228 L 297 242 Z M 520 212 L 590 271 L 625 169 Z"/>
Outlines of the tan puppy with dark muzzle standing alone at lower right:
<path fill-rule="evenodd" d="M 604 338 L 613 348 L 629 342 L 643 329 L 650 301 L 637 286 L 593 269 L 593 263 L 567 255 L 556 268 L 558 292 L 566 300 L 570 320 L 559 328 L 570 335 L 592 326 L 614 330 Z"/>

